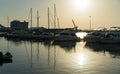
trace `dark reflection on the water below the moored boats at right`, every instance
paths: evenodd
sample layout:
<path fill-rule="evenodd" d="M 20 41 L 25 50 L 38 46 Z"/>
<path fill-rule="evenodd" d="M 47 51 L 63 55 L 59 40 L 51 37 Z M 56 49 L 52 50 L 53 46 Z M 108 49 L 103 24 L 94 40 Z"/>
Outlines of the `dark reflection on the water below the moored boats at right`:
<path fill-rule="evenodd" d="M 100 44 L 100 43 L 86 43 L 86 48 L 94 52 L 109 53 L 112 58 L 120 58 L 119 44 Z"/>

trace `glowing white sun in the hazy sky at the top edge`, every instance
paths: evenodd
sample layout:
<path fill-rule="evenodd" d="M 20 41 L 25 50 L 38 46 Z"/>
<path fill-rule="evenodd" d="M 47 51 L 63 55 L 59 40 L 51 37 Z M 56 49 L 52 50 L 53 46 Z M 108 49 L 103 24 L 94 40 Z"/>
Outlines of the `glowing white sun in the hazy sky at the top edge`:
<path fill-rule="evenodd" d="M 90 0 L 74 0 L 75 8 L 87 9 L 90 5 Z"/>

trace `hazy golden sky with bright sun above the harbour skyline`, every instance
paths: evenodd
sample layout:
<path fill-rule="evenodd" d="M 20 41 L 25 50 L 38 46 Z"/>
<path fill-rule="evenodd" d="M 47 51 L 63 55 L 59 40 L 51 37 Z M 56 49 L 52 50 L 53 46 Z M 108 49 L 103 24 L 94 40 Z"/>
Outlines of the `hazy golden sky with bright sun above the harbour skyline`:
<path fill-rule="evenodd" d="M 120 0 L 0 0 L 0 23 L 20 20 L 30 22 L 30 8 L 33 10 L 33 25 L 36 25 L 37 10 L 40 26 L 48 27 L 47 9 L 50 8 L 50 27 L 53 28 L 54 4 L 61 28 L 73 27 L 72 19 L 79 29 L 120 27 Z M 90 18 L 91 16 L 91 18 Z"/>

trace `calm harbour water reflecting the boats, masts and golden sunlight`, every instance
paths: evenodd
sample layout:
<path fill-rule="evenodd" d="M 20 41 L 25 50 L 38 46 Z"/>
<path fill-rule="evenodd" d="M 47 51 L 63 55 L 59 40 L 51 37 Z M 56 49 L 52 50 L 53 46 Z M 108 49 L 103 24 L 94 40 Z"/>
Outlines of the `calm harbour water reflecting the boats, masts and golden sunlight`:
<path fill-rule="evenodd" d="M 0 74 L 120 74 L 120 44 L 30 42 L 0 38 Z"/>

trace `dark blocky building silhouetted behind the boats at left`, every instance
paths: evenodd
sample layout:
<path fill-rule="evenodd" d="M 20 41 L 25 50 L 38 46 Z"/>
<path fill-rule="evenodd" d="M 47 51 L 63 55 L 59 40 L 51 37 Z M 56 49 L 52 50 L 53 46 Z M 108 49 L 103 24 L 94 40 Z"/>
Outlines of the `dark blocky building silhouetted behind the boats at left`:
<path fill-rule="evenodd" d="M 11 21 L 10 28 L 13 30 L 27 30 L 28 29 L 28 22 L 20 22 L 18 20 Z"/>

